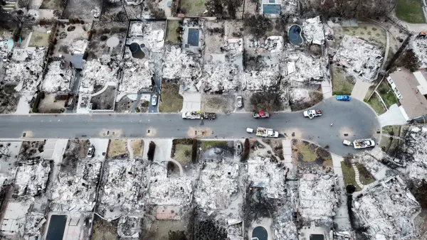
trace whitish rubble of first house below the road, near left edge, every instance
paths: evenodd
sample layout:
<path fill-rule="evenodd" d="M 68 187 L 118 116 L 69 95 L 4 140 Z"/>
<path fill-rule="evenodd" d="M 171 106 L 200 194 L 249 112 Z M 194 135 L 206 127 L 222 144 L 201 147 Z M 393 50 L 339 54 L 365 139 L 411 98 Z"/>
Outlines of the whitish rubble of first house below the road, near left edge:
<path fill-rule="evenodd" d="M 34 197 L 46 189 L 51 163 L 38 160 L 36 163 L 21 163 L 16 171 L 15 185 L 18 186 L 18 196 Z"/>

